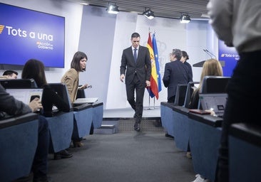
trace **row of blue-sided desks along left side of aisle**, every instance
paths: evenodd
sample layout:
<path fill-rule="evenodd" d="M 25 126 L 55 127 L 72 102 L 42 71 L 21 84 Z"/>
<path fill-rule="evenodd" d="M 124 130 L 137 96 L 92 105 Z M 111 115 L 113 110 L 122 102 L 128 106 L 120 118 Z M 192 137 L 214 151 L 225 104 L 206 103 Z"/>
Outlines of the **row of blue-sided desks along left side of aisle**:
<path fill-rule="evenodd" d="M 49 153 L 67 149 L 75 137 L 90 134 L 91 125 L 101 127 L 103 103 L 96 102 L 46 117 L 50 133 Z M 34 113 L 0 121 L 0 178 L 13 181 L 31 172 L 38 141 L 39 115 Z"/>

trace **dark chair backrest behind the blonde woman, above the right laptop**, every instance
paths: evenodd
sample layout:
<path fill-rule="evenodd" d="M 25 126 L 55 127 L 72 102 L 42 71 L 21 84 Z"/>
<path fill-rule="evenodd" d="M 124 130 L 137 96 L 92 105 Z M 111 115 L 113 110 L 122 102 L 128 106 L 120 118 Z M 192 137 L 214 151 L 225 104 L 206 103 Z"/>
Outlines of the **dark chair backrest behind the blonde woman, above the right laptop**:
<path fill-rule="evenodd" d="M 227 83 L 230 77 L 205 76 L 203 78 L 200 93 L 226 93 Z"/>

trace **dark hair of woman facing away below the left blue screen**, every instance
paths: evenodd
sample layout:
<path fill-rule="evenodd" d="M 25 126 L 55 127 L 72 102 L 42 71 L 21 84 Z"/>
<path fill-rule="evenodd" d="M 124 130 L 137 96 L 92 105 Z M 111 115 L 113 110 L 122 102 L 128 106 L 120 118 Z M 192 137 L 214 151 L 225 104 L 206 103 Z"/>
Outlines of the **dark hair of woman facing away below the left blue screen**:
<path fill-rule="evenodd" d="M 21 78 L 33 78 L 38 87 L 44 87 L 47 84 L 46 74 L 44 72 L 44 63 L 40 60 L 30 59 L 24 65 Z"/>

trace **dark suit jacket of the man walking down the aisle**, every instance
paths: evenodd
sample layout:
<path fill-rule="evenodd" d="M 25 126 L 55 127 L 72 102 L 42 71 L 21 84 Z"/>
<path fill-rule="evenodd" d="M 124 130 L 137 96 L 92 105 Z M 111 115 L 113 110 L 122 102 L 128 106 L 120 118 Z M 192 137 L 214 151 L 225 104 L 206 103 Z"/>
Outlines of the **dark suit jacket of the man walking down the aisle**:
<path fill-rule="evenodd" d="M 145 87 L 145 80 L 150 81 L 151 63 L 148 48 L 141 45 L 138 48 L 137 63 L 135 63 L 133 57 L 132 46 L 123 50 L 123 55 L 121 58 L 121 75 L 126 75 L 125 82 L 127 85 L 131 84 L 135 73 L 138 80 L 140 80 Z"/>

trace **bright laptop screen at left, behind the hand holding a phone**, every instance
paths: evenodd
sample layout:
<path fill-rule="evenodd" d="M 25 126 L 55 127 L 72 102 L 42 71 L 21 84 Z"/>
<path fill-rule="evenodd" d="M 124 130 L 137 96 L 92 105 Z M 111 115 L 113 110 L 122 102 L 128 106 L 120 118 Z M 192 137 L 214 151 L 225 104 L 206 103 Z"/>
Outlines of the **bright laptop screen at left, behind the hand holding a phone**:
<path fill-rule="evenodd" d="M 20 100 L 27 105 L 31 102 L 31 100 L 34 100 L 35 97 L 38 97 L 41 100 L 43 95 L 42 88 L 9 88 L 6 89 L 6 92 L 14 96 L 16 100 Z"/>

